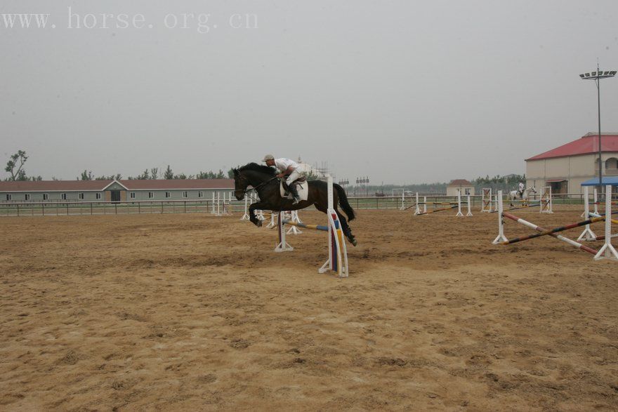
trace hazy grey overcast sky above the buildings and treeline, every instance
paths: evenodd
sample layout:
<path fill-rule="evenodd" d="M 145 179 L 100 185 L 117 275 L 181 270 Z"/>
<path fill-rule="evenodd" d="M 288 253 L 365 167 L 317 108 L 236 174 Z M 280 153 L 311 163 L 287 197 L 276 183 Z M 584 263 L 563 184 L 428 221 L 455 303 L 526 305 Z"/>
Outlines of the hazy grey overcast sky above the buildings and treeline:
<path fill-rule="evenodd" d="M 3 0 L 0 13 L 50 14 L 45 29 L 0 16 L 2 164 L 24 149 L 46 179 L 227 171 L 266 153 L 376 184 L 525 173 L 597 130 L 579 73 L 618 67 L 615 0 Z M 603 131 L 617 114 L 618 78 L 601 81 Z"/>

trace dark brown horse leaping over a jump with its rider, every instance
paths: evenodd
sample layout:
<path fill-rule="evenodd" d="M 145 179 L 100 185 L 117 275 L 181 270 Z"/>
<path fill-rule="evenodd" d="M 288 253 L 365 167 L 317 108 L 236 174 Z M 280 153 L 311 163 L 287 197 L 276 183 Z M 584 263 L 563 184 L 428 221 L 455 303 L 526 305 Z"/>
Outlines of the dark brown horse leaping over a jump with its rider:
<path fill-rule="evenodd" d="M 322 180 L 311 180 L 308 184 L 308 197 L 298 204 L 292 204 L 291 199 L 281 197 L 280 180 L 277 178 L 277 171 L 270 166 L 263 166 L 256 163 L 246 164 L 234 170 L 234 196 L 238 200 L 244 199 L 247 187 L 251 186 L 258 192 L 260 201 L 249 206 L 249 220 L 254 225 L 260 227 L 261 220 L 256 217 L 256 210 L 264 211 L 297 211 L 314 205 L 318 211 L 327 213 L 328 211 L 328 185 Z M 354 220 L 354 209 L 348 203 L 348 197 L 343 187 L 333 184 L 333 205 L 337 217 L 341 222 L 341 229 L 351 244 L 356 246 L 357 241 L 348 225 L 348 220 L 337 210 L 337 204 L 341 206 L 348 219 Z"/>

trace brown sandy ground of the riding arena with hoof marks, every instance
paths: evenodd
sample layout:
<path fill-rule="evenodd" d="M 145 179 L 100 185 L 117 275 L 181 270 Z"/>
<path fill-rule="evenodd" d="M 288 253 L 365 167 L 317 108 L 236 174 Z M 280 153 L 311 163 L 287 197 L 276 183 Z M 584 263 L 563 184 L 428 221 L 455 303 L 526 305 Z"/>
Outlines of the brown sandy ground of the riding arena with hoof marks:
<path fill-rule="evenodd" d="M 618 263 L 495 214 L 352 226 L 337 279 L 323 232 L 239 215 L 1 218 L 0 410 L 618 408 Z"/>

